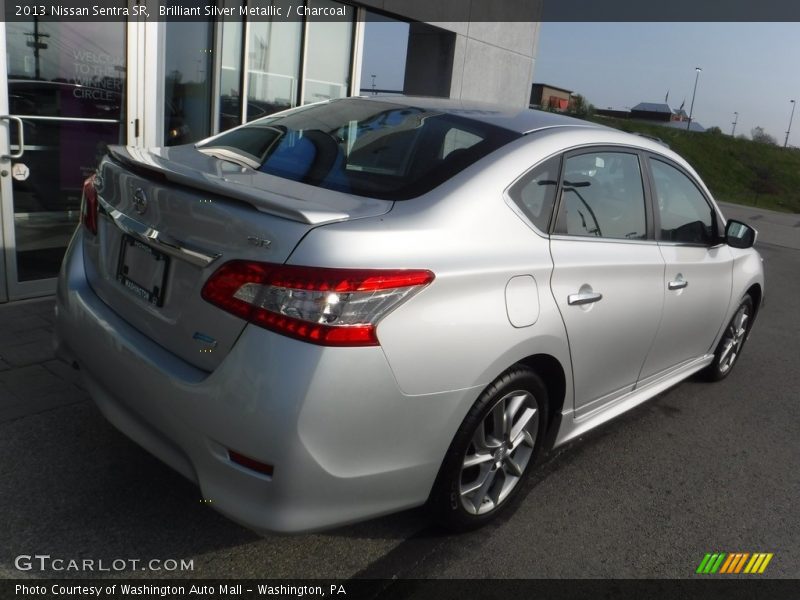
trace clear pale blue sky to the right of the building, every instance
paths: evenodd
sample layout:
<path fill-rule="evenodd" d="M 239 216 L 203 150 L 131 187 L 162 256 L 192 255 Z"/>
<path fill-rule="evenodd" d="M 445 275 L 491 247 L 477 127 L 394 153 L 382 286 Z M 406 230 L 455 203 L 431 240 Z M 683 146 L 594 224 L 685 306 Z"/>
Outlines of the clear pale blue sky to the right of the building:
<path fill-rule="evenodd" d="M 533 80 L 582 94 L 597 108 L 664 102 L 736 135 L 763 127 L 781 145 L 800 104 L 800 23 L 541 24 Z M 800 146 L 800 110 L 789 144 Z"/>

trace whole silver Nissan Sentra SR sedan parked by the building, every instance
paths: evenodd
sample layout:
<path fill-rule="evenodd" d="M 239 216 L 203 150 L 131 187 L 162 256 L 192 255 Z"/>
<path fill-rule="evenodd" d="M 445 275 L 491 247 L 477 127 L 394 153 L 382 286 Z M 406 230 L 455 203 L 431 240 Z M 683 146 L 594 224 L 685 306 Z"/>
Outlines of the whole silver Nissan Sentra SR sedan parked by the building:
<path fill-rule="evenodd" d="M 256 530 L 426 502 L 467 528 L 543 450 L 726 377 L 763 297 L 754 241 L 650 140 L 350 98 L 111 148 L 60 275 L 58 354 Z"/>

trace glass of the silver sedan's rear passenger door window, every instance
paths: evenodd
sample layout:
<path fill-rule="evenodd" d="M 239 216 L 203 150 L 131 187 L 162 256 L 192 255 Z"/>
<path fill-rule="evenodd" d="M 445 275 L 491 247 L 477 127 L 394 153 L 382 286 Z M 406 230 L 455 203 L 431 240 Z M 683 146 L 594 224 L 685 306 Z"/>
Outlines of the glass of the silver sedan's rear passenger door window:
<path fill-rule="evenodd" d="M 647 238 L 644 187 L 636 154 L 590 152 L 564 163 L 556 233 Z"/>

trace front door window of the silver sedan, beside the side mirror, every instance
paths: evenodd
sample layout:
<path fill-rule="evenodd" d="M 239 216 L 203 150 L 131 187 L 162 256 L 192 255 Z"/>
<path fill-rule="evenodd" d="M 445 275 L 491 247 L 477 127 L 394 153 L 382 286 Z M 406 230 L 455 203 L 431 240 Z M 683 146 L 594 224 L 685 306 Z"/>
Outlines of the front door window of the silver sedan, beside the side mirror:
<path fill-rule="evenodd" d="M 675 167 L 650 160 L 661 239 L 684 244 L 711 244 L 715 238 L 711 207 L 697 186 Z"/>

